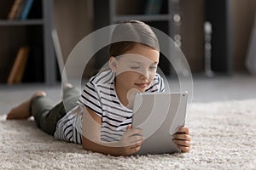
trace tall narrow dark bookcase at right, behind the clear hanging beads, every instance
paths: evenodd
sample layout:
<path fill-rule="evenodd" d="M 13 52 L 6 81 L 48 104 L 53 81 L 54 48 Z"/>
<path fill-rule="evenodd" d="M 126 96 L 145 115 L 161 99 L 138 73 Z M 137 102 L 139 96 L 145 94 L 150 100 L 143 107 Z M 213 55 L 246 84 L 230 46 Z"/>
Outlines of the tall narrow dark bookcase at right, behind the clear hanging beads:
<path fill-rule="evenodd" d="M 205 20 L 212 23 L 213 29 L 212 69 L 227 75 L 233 72 L 231 6 L 230 0 L 205 1 Z"/>

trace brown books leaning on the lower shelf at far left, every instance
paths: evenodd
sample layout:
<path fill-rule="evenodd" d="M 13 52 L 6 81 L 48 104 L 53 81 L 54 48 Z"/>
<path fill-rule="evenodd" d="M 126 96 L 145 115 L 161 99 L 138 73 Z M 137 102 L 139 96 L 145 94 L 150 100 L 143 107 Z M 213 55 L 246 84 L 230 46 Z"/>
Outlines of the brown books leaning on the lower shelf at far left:
<path fill-rule="evenodd" d="M 26 61 L 29 54 L 29 47 L 23 46 L 20 47 L 18 50 L 18 53 L 15 57 L 14 65 L 12 66 L 12 69 L 9 73 L 9 77 L 7 80 L 8 84 L 13 84 L 16 82 L 21 82 L 22 77 L 24 75 L 24 71 L 26 68 Z"/>

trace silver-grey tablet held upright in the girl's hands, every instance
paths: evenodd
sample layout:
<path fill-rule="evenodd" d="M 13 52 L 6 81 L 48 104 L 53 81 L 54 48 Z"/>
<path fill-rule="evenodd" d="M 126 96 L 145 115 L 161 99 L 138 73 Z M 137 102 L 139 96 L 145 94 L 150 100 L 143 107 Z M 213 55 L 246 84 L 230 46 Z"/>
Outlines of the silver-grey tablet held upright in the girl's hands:
<path fill-rule="evenodd" d="M 136 94 L 132 127 L 143 128 L 144 142 L 136 155 L 180 152 L 172 135 L 184 126 L 188 93 Z"/>

